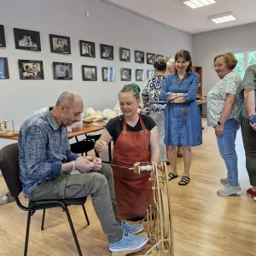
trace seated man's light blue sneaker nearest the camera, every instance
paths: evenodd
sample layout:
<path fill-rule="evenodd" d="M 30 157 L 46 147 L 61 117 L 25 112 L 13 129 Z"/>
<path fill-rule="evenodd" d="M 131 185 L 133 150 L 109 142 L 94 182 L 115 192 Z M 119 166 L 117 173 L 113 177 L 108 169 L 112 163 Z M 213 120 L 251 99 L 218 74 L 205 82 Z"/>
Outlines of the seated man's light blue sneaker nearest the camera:
<path fill-rule="evenodd" d="M 132 235 L 124 230 L 121 240 L 109 243 L 109 250 L 111 252 L 131 251 L 132 253 L 138 251 L 147 242 L 148 236 Z"/>

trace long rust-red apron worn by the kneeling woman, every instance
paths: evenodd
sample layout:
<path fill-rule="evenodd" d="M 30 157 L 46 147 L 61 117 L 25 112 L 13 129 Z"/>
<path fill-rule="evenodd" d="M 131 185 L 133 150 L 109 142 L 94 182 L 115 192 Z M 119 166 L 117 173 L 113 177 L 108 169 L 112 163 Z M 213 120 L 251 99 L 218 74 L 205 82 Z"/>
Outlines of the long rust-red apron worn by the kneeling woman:
<path fill-rule="evenodd" d="M 136 162 L 150 161 L 150 131 L 139 115 L 142 131 L 126 131 L 124 117 L 123 131 L 113 148 L 113 165 L 132 167 Z M 152 183 L 148 180 L 150 173 L 140 175 L 132 170 L 112 166 L 114 189 L 119 218 L 143 218 L 149 205 L 153 204 Z"/>

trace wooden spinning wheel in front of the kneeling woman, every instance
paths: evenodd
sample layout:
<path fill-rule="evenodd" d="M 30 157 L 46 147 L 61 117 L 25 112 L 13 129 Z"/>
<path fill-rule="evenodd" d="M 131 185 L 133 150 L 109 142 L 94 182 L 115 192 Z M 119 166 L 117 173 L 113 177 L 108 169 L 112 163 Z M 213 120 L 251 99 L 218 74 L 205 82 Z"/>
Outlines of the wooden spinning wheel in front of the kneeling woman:
<path fill-rule="evenodd" d="M 134 172 L 138 175 L 141 172 L 151 172 L 150 180 L 153 184 L 154 206 L 149 206 L 147 210 L 147 251 L 143 254 L 133 253 L 132 255 L 174 256 L 171 193 L 168 187 L 167 166 L 166 163 L 157 166 L 153 162 L 150 165 L 150 171 L 148 166 L 142 163 L 136 163 L 134 166 Z M 145 247 L 142 250 L 144 251 Z M 122 252 L 118 255 L 129 255 L 129 253 Z"/>

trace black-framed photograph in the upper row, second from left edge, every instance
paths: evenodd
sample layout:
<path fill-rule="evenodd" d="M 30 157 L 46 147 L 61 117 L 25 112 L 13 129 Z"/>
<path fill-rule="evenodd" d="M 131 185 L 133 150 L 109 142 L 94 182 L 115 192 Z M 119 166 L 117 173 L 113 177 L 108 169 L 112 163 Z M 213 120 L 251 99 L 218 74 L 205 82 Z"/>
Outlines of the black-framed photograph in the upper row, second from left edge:
<path fill-rule="evenodd" d="M 41 51 L 40 33 L 37 31 L 15 28 L 15 48 Z"/>

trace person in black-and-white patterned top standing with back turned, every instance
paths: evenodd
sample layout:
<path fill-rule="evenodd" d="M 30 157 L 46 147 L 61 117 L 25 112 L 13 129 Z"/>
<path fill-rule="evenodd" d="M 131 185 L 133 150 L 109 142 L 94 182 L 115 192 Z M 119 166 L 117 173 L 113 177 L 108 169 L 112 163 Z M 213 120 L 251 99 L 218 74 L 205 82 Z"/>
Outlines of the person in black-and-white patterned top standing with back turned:
<path fill-rule="evenodd" d="M 158 59 L 154 61 L 154 77 L 148 79 L 145 84 L 142 98 L 143 107 L 150 107 L 150 116 L 154 119 L 159 136 L 160 144 L 160 161 L 167 160 L 165 139 L 165 113 L 166 102 L 160 101 L 160 90 L 164 79 L 166 78 L 166 61 L 164 59 Z"/>

